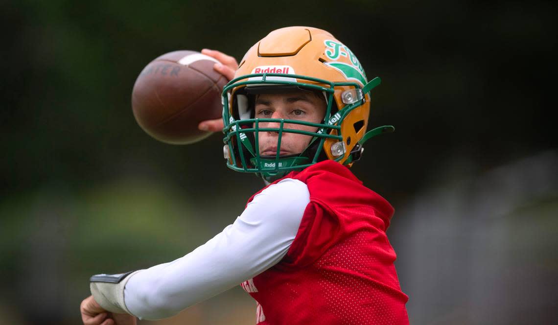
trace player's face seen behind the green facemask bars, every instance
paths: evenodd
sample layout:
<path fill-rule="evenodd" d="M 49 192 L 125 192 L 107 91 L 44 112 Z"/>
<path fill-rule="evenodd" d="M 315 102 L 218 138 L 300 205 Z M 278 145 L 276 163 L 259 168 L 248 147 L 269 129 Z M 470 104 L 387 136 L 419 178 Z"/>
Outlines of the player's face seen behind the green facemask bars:
<path fill-rule="evenodd" d="M 256 118 L 283 118 L 285 120 L 321 123 L 324 119 L 326 103 L 323 97 L 312 92 L 285 94 L 261 94 L 256 98 Z M 259 127 L 278 128 L 280 123 L 259 123 Z M 283 128 L 318 131 L 317 127 L 285 123 Z M 277 155 L 278 132 L 259 132 L 259 154 Z M 311 136 L 282 132 L 280 155 L 300 154 L 310 144 Z"/>

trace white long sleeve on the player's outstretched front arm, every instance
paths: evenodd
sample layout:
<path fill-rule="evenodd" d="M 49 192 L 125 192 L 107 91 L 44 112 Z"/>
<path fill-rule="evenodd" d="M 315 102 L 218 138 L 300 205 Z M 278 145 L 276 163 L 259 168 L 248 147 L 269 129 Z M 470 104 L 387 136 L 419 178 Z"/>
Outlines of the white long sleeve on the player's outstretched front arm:
<path fill-rule="evenodd" d="M 309 202 L 299 180 L 270 185 L 204 245 L 134 273 L 124 288 L 126 307 L 140 319 L 171 317 L 262 273 L 287 253 Z"/>

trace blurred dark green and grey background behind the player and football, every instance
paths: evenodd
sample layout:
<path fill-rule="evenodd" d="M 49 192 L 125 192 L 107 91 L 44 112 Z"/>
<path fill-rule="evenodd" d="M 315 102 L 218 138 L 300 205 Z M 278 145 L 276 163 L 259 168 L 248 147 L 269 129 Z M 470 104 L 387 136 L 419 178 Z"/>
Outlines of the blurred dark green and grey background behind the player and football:
<path fill-rule="evenodd" d="M 234 221 L 262 182 L 225 167 L 220 135 L 147 136 L 132 86 L 165 52 L 240 59 L 292 25 L 330 31 L 383 80 L 370 123 L 396 133 L 353 171 L 396 208 L 411 323 L 550 323 L 555 16 L 542 1 L 1 1 L 0 323 L 78 324 L 90 275 L 176 259 Z M 141 323 L 254 318 L 236 288 Z"/>

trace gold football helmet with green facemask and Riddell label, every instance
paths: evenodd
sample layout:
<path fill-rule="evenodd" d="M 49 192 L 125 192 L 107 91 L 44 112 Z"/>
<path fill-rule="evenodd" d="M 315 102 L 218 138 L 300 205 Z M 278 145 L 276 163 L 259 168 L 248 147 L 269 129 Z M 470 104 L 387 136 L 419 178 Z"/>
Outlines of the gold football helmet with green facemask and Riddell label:
<path fill-rule="evenodd" d="M 248 50 L 233 80 L 223 89 L 227 166 L 273 181 L 325 159 L 352 165 L 360 159 L 368 138 L 393 131 L 392 126 L 382 126 L 366 133 L 369 92 L 379 83 L 379 78 L 368 82 L 357 57 L 329 32 L 301 26 L 272 31 Z M 256 94 L 293 89 L 324 95 L 327 108 L 321 123 L 254 118 Z M 278 127 L 264 128 L 262 122 Z M 289 125 L 312 126 L 316 131 L 295 130 Z M 259 154 L 258 132 L 278 133 L 275 156 Z M 281 135 L 286 132 L 308 135 L 312 140 L 300 154 L 281 156 Z"/>

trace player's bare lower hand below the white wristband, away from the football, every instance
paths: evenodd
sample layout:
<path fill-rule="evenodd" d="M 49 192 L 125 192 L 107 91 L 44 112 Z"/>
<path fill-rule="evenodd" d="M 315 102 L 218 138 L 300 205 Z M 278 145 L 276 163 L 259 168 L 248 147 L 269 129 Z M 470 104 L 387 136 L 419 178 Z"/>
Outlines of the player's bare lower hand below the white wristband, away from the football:
<path fill-rule="evenodd" d="M 100 307 L 92 295 L 83 299 L 79 309 L 84 325 L 136 325 L 136 317 L 107 312 Z"/>

